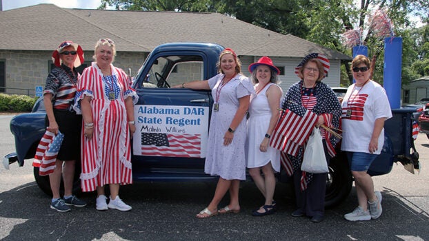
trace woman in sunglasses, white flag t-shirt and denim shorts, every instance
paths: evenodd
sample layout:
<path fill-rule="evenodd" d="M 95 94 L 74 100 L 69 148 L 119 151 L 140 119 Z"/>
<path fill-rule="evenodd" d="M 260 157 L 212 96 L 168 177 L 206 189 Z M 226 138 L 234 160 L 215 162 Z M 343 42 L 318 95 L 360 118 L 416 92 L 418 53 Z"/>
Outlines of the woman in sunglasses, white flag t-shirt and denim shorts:
<path fill-rule="evenodd" d="M 355 178 L 358 206 L 344 215 L 349 221 L 377 219 L 381 216 L 381 192 L 374 190 L 368 171 L 381 153 L 384 143 L 384 122 L 392 117 L 386 91 L 370 79 L 370 59 L 357 55 L 352 61 L 356 83 L 348 87 L 343 107 L 343 140 L 341 150 L 347 151 L 350 170 Z"/>

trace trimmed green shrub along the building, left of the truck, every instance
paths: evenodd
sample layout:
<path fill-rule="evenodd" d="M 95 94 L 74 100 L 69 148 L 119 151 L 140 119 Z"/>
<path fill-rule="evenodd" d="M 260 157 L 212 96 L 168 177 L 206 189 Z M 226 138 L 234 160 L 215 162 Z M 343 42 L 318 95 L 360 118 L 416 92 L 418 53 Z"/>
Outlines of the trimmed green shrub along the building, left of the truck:
<path fill-rule="evenodd" d="M 31 112 L 37 98 L 17 94 L 0 94 L 1 112 Z"/>

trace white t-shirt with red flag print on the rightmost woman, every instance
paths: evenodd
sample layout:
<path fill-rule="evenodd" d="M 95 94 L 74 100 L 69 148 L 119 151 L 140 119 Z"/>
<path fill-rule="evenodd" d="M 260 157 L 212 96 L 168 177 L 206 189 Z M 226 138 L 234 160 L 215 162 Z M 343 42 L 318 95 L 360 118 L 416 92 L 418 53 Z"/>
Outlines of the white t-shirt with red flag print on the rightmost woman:
<path fill-rule="evenodd" d="M 392 117 L 392 110 L 386 91 L 375 81 L 368 81 L 363 87 L 355 84 L 348 87 L 342 107 L 343 138 L 341 150 L 370 153 L 372 131 L 377 118 Z M 384 143 L 384 129 L 379 136 L 378 149 L 380 154 Z"/>

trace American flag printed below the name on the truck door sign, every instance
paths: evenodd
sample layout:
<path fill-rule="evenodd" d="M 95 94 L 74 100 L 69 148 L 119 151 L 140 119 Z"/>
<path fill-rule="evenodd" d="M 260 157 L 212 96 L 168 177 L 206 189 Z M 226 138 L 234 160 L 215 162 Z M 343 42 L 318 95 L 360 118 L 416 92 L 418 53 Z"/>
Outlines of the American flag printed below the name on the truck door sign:
<path fill-rule="evenodd" d="M 201 134 L 141 133 L 141 154 L 199 158 Z"/>

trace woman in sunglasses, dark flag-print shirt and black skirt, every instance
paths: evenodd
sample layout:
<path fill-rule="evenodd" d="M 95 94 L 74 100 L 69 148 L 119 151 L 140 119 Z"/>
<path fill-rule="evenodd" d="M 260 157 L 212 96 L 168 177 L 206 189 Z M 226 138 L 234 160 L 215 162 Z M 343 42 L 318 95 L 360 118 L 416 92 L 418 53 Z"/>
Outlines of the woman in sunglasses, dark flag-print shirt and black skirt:
<path fill-rule="evenodd" d="M 81 46 L 72 41 L 64 41 L 57 50 L 52 53 L 52 61 L 57 67 L 52 69 L 46 78 L 43 91 L 43 104 L 46 108 L 46 129 L 49 132 L 64 134 L 64 139 L 59 149 L 55 169 L 49 175 L 50 188 L 52 190 L 52 202 L 50 207 L 57 211 L 70 211 L 70 205 L 76 207 L 86 206 L 86 202 L 79 200 L 72 194 L 74 169 L 76 160 L 79 159 L 79 138 L 81 128 L 81 116 L 72 111 L 74 95 L 77 90 L 79 74 L 75 67 L 83 63 L 83 51 Z M 63 199 L 59 194 L 61 174 L 64 180 Z"/>

